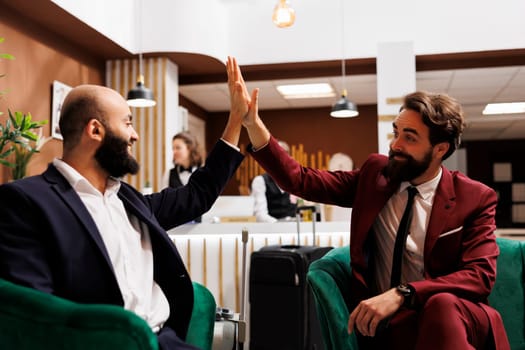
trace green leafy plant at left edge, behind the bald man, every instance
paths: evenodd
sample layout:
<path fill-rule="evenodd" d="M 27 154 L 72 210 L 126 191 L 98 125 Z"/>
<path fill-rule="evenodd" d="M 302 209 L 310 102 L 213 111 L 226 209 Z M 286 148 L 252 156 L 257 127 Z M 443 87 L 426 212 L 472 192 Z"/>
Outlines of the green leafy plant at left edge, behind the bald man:
<path fill-rule="evenodd" d="M 0 43 L 4 38 L 0 38 Z M 12 60 L 10 54 L 0 53 L 0 58 Z M 0 78 L 5 74 L 0 74 Z M 6 90 L 0 90 L 0 98 Z M 0 111 L 0 115 L 3 113 Z M 47 120 L 33 121 L 31 113 L 9 110 L 9 118 L 0 123 L 0 165 L 12 168 L 13 180 L 21 179 L 26 174 L 27 163 L 38 152 L 40 137 L 36 129 L 46 124 Z"/>

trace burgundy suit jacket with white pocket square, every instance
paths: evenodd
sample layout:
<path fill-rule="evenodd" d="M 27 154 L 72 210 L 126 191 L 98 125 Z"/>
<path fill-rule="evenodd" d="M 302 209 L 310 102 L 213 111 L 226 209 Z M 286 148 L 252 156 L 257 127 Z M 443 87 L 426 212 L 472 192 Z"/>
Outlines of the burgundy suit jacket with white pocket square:
<path fill-rule="evenodd" d="M 368 258 L 372 224 L 399 187 L 383 172 L 388 158 L 369 156 L 360 169 L 322 171 L 302 167 L 279 146 L 275 138 L 254 152 L 259 164 L 279 186 L 309 201 L 351 207 L 350 300 L 355 306 L 372 296 Z M 436 190 L 424 247 L 425 279 L 410 282 L 415 303 L 421 305 L 436 293 L 449 292 L 476 303 L 487 312 L 497 349 L 508 349 L 499 313 L 488 306 L 496 279 L 499 249 L 494 235 L 497 196 L 494 190 L 445 167 Z"/>

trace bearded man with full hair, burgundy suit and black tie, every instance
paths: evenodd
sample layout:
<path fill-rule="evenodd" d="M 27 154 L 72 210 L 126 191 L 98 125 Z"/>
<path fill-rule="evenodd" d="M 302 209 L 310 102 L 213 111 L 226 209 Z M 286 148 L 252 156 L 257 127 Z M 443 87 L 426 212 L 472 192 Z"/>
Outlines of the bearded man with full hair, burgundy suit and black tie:
<path fill-rule="evenodd" d="M 487 302 L 499 254 L 496 193 L 441 164 L 465 125 L 459 103 L 443 94 L 409 94 L 392 123 L 388 157 L 370 155 L 353 171 L 321 171 L 279 147 L 259 118 L 258 90 L 250 96 L 235 60 L 228 73 L 230 89 L 246 96 L 250 152 L 279 186 L 353 208 L 348 331 L 357 333 L 360 349 L 509 349 L 501 317 Z M 393 282 L 407 192 L 415 195 L 412 217 Z"/>

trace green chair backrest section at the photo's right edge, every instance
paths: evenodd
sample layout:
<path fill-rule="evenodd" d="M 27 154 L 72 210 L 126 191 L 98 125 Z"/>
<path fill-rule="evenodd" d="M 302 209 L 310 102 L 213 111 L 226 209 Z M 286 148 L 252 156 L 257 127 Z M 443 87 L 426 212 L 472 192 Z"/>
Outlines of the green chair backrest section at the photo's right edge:
<path fill-rule="evenodd" d="M 525 349 L 525 243 L 506 238 L 497 242 L 500 255 L 489 303 L 503 319 L 511 348 Z"/>

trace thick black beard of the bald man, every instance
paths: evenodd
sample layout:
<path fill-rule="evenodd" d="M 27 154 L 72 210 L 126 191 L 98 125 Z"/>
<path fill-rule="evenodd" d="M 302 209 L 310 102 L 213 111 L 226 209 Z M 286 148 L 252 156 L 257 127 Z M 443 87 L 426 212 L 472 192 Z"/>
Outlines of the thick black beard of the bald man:
<path fill-rule="evenodd" d="M 118 137 L 110 129 L 106 128 L 106 136 L 95 153 L 95 159 L 100 166 L 113 177 L 122 177 L 126 174 L 136 174 L 139 171 L 139 163 L 128 152 L 129 142 Z"/>

